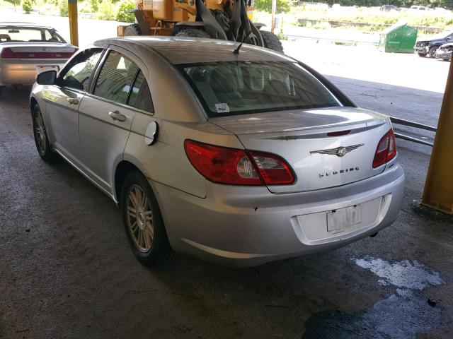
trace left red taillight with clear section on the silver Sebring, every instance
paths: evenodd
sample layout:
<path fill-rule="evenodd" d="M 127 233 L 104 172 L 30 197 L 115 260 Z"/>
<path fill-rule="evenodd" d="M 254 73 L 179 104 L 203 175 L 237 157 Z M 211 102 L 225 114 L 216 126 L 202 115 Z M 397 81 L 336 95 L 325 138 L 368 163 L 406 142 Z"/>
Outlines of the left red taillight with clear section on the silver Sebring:
<path fill-rule="evenodd" d="M 277 155 L 225 148 L 186 140 L 185 154 L 206 179 L 231 185 L 292 184 L 289 166 Z"/>

